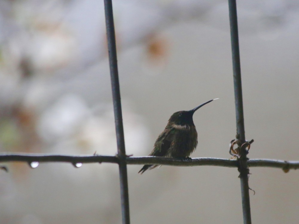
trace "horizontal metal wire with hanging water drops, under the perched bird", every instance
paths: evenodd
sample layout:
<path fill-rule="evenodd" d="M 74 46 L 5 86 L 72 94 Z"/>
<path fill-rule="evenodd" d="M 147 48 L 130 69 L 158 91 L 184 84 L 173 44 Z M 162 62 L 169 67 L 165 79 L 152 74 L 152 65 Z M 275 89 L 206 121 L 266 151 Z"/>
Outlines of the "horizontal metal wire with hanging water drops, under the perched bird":
<path fill-rule="evenodd" d="M 50 155 L 50 154 L 0 154 L 0 162 L 70 162 L 70 163 L 94 163 L 108 162 L 118 163 L 117 156 L 69 156 L 69 155 Z M 223 166 L 237 167 L 237 160 L 219 158 L 193 158 L 192 161 L 183 161 L 166 157 L 127 157 L 127 164 L 144 165 L 173 165 L 173 166 Z M 249 167 L 274 167 L 283 170 L 299 169 L 299 161 L 285 161 L 277 159 L 249 159 Z"/>

